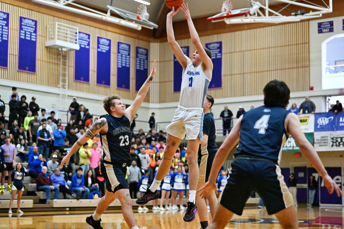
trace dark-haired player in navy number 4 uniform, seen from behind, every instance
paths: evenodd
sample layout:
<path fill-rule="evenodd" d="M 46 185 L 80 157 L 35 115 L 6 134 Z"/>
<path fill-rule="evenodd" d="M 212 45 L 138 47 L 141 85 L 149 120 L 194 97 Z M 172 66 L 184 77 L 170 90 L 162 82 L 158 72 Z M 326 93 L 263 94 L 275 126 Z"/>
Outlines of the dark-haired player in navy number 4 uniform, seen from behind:
<path fill-rule="evenodd" d="M 239 142 L 231 173 L 221 202 L 208 229 L 225 228 L 233 214 L 241 215 L 251 191 L 266 203 L 269 215 L 275 214 L 283 228 L 298 228 L 293 197 L 284 182 L 279 162 L 283 145 L 291 135 L 304 157 L 322 176 L 330 194 L 342 191 L 327 174 L 318 154 L 306 139 L 299 118 L 286 110 L 290 90 L 286 83 L 270 81 L 264 88 L 264 106 L 241 115 L 216 153 L 208 182 L 200 189 L 201 196 L 216 190 L 216 177 L 229 151 Z"/>

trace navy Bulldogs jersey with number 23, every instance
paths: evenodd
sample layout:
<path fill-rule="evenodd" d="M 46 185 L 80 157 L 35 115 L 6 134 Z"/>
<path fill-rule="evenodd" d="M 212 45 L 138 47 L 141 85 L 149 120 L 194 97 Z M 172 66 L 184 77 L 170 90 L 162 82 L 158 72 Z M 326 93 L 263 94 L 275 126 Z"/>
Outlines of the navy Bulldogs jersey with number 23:
<path fill-rule="evenodd" d="M 108 123 L 106 135 L 100 134 L 101 145 L 104 149 L 103 159 L 106 163 L 124 164 L 129 160 L 131 130 L 130 121 L 126 116 L 116 118 L 111 115 L 102 115 Z"/>

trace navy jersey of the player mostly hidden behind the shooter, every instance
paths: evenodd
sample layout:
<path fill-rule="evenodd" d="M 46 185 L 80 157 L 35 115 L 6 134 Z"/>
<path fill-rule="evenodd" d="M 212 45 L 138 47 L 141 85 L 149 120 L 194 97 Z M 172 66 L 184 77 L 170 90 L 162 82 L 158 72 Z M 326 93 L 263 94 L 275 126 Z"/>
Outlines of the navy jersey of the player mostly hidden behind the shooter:
<path fill-rule="evenodd" d="M 208 154 L 216 153 L 216 125 L 213 116 L 210 113 L 204 115 L 203 119 L 203 133 L 208 135 L 208 141 L 205 145 L 200 145 L 198 148 L 198 157 Z"/>

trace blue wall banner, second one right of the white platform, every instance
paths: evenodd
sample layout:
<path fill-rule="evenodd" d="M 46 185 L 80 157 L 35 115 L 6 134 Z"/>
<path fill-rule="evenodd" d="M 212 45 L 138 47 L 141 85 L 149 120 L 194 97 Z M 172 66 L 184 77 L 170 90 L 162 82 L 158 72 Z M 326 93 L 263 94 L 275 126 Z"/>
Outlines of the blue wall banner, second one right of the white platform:
<path fill-rule="evenodd" d="M 96 84 L 111 85 L 111 39 L 97 36 Z"/>

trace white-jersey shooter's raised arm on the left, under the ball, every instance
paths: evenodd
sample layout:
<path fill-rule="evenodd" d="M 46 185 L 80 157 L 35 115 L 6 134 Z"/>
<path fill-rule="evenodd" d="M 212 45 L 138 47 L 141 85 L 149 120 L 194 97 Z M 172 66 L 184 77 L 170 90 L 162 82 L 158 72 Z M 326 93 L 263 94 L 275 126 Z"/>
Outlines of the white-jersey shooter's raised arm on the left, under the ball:
<path fill-rule="evenodd" d="M 179 8 L 174 10 L 172 7 L 172 11 L 167 14 L 166 18 L 166 32 L 167 32 L 167 41 L 171 46 L 173 54 L 177 58 L 179 64 L 183 67 L 183 72 L 186 69 L 187 64 L 191 62 L 190 58 L 185 56 L 182 49 L 180 48 L 179 44 L 174 39 L 174 32 L 172 26 L 172 17 L 178 12 Z"/>

